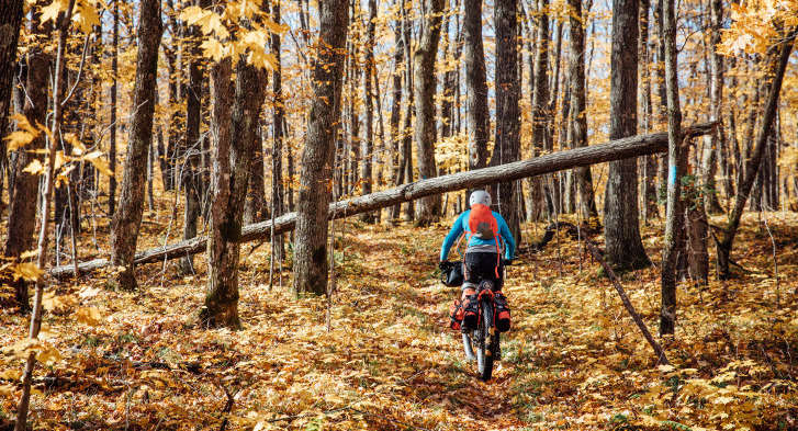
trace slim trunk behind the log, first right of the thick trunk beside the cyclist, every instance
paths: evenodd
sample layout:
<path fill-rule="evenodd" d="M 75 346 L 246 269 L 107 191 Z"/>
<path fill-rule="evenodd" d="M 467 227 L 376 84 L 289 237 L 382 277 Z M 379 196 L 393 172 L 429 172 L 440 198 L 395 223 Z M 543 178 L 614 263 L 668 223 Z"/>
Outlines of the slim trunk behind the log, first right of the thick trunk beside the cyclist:
<path fill-rule="evenodd" d="M 546 149 L 549 125 L 549 0 L 540 0 L 538 10 L 538 36 L 535 54 L 535 70 L 532 76 L 532 156 L 538 156 Z M 531 220 L 537 222 L 543 212 L 543 183 L 542 179 L 530 180 L 529 203 L 532 208 Z"/>

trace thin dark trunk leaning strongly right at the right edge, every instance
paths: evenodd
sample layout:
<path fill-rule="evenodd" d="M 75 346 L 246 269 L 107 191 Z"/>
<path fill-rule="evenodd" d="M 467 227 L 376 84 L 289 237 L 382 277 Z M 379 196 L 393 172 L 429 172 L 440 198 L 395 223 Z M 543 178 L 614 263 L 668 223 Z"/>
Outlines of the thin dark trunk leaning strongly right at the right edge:
<path fill-rule="evenodd" d="M 789 55 L 793 53 L 793 45 L 795 44 L 796 34 L 798 29 L 793 29 L 786 38 L 780 41 L 779 44 L 775 45 L 774 50 L 778 49 L 778 54 L 773 56 L 773 65 L 771 68 L 771 75 L 773 81 L 769 84 L 769 92 L 767 94 L 767 101 L 765 103 L 765 112 L 762 117 L 762 125 L 760 134 L 756 138 L 756 144 L 751 151 L 751 157 L 745 160 L 745 175 L 743 180 L 739 182 L 737 196 L 734 199 L 734 208 L 729 215 L 729 223 L 722 231 L 718 247 L 718 276 L 721 280 L 729 279 L 729 263 L 731 248 L 734 243 L 734 236 L 737 235 L 738 227 L 740 227 L 740 218 L 742 217 L 745 208 L 745 202 L 748 201 L 749 194 L 753 186 L 756 173 L 762 162 L 762 156 L 767 145 L 767 138 L 771 135 L 771 128 L 773 127 L 774 118 L 776 117 L 776 109 L 778 106 L 778 94 L 782 91 L 782 83 L 784 82 L 784 72 L 787 69 L 789 63 Z"/>

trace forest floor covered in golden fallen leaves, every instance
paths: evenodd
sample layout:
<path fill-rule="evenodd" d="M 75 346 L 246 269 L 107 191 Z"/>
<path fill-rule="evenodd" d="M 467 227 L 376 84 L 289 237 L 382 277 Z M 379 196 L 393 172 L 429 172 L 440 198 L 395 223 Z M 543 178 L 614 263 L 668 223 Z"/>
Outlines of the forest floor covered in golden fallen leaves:
<path fill-rule="evenodd" d="M 139 268 L 136 293 L 114 290 L 111 274 L 66 281 L 46 297 L 30 418 L 36 430 L 796 430 L 798 216 L 765 215 L 745 217 L 734 249 L 750 272 L 681 285 L 672 366 L 656 366 L 597 263 L 564 237 L 508 268 L 514 328 L 487 383 L 448 329 L 459 291 L 436 272 L 447 224 L 336 222 L 329 331 L 325 298 L 296 298 L 289 271 L 269 287 L 268 242 L 241 247 L 240 331 L 196 322 L 204 257 L 195 276 Z M 161 243 L 168 220 L 145 218 L 139 247 Z M 661 230 L 643 229 L 656 265 Z M 106 226 L 98 232 L 106 241 Z M 83 237 L 80 249 L 94 248 Z M 656 332 L 659 270 L 622 284 Z M 27 318 L 0 313 L 2 429 Z"/>

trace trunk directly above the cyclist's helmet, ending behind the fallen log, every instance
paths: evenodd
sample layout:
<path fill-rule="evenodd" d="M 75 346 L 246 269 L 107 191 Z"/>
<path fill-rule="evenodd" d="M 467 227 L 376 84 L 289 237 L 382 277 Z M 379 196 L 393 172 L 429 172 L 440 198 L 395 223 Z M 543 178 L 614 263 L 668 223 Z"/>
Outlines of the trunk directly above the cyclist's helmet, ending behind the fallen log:
<path fill-rule="evenodd" d="M 469 169 L 487 166 L 487 78 L 482 46 L 482 0 L 463 0 L 463 64 L 465 65 L 465 103 L 469 139 Z"/>

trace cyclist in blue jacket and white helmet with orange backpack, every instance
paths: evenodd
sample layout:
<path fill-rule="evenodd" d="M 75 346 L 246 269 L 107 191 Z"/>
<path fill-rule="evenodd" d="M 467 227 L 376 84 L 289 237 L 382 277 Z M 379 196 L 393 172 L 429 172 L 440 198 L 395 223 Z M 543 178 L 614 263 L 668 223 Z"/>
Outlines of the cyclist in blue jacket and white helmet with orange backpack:
<path fill-rule="evenodd" d="M 473 329 L 476 324 L 476 288 L 480 282 L 488 280 L 493 282 L 493 291 L 501 292 L 504 282 L 502 248 L 504 248 L 504 259 L 508 262 L 514 259 L 516 248 L 507 223 L 501 214 L 490 209 L 490 193 L 484 190 L 474 191 L 469 199 L 469 206 L 471 209 L 460 214 L 440 247 L 442 266 L 454 241 L 462 234 L 467 236 L 461 296 L 464 308 L 463 331 Z M 499 300 L 504 300 L 504 296 L 501 294 Z M 506 304 L 504 306 L 506 307 Z M 507 325 L 509 325 L 509 315 Z"/>

